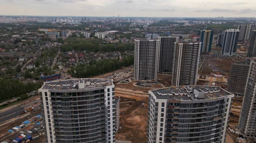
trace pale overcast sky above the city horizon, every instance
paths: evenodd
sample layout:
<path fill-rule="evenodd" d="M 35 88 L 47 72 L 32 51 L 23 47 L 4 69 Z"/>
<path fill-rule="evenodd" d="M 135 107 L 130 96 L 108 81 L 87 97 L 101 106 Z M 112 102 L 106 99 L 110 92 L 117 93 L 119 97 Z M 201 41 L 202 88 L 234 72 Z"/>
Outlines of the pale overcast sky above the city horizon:
<path fill-rule="evenodd" d="M 0 15 L 255 17 L 255 0 L 0 0 Z"/>

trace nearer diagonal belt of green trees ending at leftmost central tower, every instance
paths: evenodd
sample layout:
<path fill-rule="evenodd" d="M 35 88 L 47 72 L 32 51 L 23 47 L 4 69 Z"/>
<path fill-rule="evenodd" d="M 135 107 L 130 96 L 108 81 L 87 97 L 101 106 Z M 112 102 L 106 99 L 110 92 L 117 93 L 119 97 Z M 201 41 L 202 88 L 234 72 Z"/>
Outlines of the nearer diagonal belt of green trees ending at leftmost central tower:
<path fill-rule="evenodd" d="M 79 67 L 71 68 L 72 76 L 76 78 L 87 78 L 97 76 L 113 70 L 120 69 L 121 67 L 128 67 L 134 64 L 134 56 L 127 56 L 123 60 L 99 60 L 84 66 L 81 64 Z"/>

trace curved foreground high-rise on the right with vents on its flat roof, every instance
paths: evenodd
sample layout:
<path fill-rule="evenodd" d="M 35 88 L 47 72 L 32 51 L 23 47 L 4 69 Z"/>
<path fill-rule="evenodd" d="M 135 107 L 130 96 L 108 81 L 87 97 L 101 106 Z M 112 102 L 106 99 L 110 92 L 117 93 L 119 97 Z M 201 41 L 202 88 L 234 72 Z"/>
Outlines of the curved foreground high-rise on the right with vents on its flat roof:
<path fill-rule="evenodd" d="M 206 86 L 148 93 L 148 143 L 225 143 L 232 93 Z"/>

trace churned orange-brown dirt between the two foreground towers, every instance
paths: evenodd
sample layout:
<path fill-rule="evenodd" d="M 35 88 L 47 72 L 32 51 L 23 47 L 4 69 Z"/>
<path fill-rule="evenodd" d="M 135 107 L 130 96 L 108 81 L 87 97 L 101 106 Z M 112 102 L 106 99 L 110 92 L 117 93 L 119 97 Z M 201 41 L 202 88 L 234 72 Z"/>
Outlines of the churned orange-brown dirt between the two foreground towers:
<path fill-rule="evenodd" d="M 134 143 L 146 143 L 148 120 L 148 97 L 141 97 L 139 101 L 130 98 L 120 98 L 121 129 L 116 133 L 117 140 L 131 140 Z M 144 103 L 144 105 L 142 105 Z"/>

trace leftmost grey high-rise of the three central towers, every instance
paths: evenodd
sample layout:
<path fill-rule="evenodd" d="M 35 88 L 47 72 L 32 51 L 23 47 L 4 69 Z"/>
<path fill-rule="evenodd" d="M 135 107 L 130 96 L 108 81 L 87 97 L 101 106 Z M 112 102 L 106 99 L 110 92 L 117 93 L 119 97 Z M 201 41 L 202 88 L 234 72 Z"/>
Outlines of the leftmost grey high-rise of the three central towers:
<path fill-rule="evenodd" d="M 156 79 L 159 60 L 157 39 L 135 39 L 134 46 L 134 79 Z"/>

